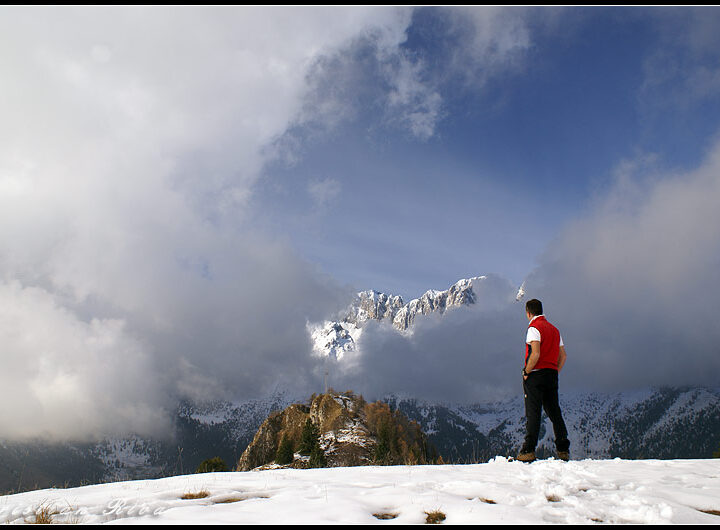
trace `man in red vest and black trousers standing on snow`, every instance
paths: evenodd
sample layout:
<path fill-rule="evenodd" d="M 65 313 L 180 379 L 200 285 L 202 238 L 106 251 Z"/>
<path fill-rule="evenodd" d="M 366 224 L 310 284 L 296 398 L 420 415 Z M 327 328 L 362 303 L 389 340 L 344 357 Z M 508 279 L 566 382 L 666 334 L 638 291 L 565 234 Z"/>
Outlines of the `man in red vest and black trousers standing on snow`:
<path fill-rule="evenodd" d="M 535 446 L 540 433 L 542 410 L 550 418 L 555 431 L 555 448 L 561 460 L 570 459 L 570 441 L 567 428 L 560 412 L 558 400 L 558 373 L 565 360 L 565 345 L 558 329 L 543 315 L 542 302 L 529 300 L 525 312 L 530 325 L 525 339 L 525 367 L 523 368 L 523 390 L 525 392 L 525 442 L 518 454 L 518 460 L 535 460 Z"/>

